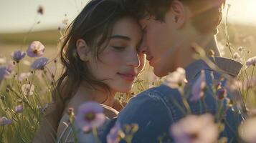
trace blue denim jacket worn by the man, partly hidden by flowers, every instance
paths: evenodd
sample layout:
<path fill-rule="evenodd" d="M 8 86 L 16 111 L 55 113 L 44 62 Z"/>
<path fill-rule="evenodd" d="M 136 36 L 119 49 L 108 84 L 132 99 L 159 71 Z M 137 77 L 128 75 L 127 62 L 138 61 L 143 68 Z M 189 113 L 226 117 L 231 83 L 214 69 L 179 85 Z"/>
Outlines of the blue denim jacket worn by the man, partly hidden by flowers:
<path fill-rule="evenodd" d="M 222 57 L 216 57 L 215 64 L 219 66 L 219 69 L 233 77 L 237 76 L 242 67 L 240 62 Z M 188 85 L 193 85 L 196 82 L 203 69 L 207 86 L 212 86 L 213 81 L 219 79 L 222 75 L 211 69 L 204 61 L 194 61 L 185 69 Z M 222 84 L 225 83 L 223 82 Z M 227 97 L 230 99 L 234 98 L 230 92 L 227 92 Z M 239 99 L 240 97 L 236 98 L 235 100 L 237 101 L 242 100 Z M 188 100 L 191 114 L 217 113 L 218 107 L 212 92 L 204 92 L 204 101 L 207 107 L 203 106 L 202 100 L 196 102 L 189 102 Z M 177 104 L 184 108 L 179 91 L 163 84 L 138 94 L 130 100 L 126 107 L 118 114 L 118 118 L 113 120 L 108 129 L 106 129 L 102 137 L 103 142 L 105 141 L 106 134 L 108 134 L 108 131 L 115 122 L 120 124 L 138 124 L 139 129 L 134 134 L 132 142 L 159 142 L 159 138 L 162 138 L 162 142 L 174 142 L 170 134 L 171 124 L 185 117 L 181 109 L 176 106 Z M 227 107 L 224 106 L 224 108 Z M 229 142 L 238 142 L 237 127 L 243 118 L 244 116 L 240 109 L 236 107 L 227 108 L 227 113 L 224 115 L 225 128 L 221 133 L 221 137 L 227 137 Z"/>

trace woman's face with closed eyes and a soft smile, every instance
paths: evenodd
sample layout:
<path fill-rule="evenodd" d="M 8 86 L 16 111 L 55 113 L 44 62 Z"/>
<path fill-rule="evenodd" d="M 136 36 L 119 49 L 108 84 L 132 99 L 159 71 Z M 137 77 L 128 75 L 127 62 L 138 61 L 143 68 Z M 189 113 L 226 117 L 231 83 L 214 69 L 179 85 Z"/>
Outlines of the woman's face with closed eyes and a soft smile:
<path fill-rule="evenodd" d="M 113 92 L 129 92 L 145 64 L 144 54 L 138 53 L 141 38 L 141 26 L 135 19 L 126 16 L 118 20 L 99 58 L 92 54 L 87 61 L 95 78 L 108 84 Z"/>

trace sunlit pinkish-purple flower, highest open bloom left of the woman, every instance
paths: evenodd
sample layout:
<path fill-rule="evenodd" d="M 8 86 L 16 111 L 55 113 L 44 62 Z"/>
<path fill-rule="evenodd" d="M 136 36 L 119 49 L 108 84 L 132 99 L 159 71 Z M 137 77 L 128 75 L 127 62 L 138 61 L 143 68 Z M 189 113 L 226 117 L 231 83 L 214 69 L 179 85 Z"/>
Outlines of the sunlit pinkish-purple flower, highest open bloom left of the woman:
<path fill-rule="evenodd" d="M 27 49 L 27 55 L 30 57 L 39 57 L 44 54 L 44 45 L 40 41 L 33 41 L 28 49 Z"/>

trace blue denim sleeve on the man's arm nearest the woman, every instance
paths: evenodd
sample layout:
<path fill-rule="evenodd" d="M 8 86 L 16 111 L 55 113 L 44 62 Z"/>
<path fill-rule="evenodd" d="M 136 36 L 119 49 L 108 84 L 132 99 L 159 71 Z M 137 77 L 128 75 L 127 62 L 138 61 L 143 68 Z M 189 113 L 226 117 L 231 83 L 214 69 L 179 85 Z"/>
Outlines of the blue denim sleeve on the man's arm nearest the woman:
<path fill-rule="evenodd" d="M 159 142 L 159 137 L 169 138 L 171 113 L 161 96 L 146 92 L 131 99 L 118 115 L 120 124 L 138 124 L 132 142 Z"/>

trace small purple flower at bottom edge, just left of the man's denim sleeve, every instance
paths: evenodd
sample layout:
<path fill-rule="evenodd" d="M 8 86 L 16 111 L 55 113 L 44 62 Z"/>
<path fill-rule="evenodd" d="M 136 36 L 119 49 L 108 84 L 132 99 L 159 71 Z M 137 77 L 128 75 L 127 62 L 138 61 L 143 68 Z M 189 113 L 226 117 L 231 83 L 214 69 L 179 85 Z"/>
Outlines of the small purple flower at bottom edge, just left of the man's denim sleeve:
<path fill-rule="evenodd" d="M 107 142 L 108 143 L 118 143 L 120 142 L 120 137 L 124 137 L 125 134 L 123 133 L 120 123 L 116 123 L 115 126 L 110 129 L 110 133 L 107 135 Z"/>

